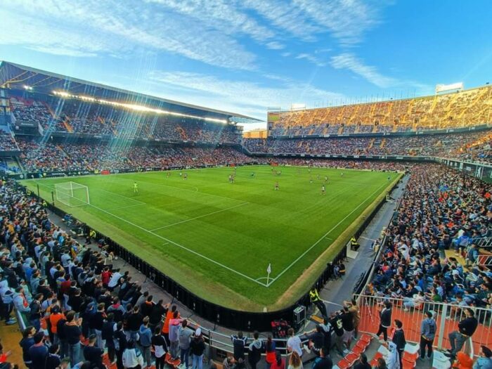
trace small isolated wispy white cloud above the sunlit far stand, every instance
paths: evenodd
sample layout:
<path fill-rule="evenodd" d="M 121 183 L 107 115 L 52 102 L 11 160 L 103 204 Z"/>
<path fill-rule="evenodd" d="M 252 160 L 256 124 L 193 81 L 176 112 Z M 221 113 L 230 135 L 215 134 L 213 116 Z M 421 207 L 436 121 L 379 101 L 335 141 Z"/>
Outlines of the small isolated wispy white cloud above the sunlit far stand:
<path fill-rule="evenodd" d="M 350 70 L 378 87 L 387 88 L 394 86 L 398 82 L 394 78 L 382 75 L 377 71 L 376 67 L 365 65 L 363 60 L 357 58 L 353 53 L 342 53 L 332 56 L 330 64 L 335 69 Z"/>

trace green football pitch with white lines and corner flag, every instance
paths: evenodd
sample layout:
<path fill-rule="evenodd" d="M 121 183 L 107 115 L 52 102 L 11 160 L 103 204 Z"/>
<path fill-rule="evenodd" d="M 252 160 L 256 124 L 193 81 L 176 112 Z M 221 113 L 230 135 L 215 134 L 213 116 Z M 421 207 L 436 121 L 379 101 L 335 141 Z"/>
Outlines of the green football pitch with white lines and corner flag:
<path fill-rule="evenodd" d="M 234 173 L 235 183 L 229 183 Z M 34 192 L 39 185 L 41 197 L 51 201 L 56 183 L 65 183 L 58 186 L 58 196 L 70 205 L 83 202 L 70 202 L 63 190 L 66 183 L 87 186 L 90 205 L 70 207 L 55 200 L 56 206 L 200 297 L 233 309 L 262 311 L 288 306 L 306 292 L 399 176 L 254 166 L 22 184 Z M 85 193 L 84 187 L 73 190 L 75 198 L 84 199 Z"/>

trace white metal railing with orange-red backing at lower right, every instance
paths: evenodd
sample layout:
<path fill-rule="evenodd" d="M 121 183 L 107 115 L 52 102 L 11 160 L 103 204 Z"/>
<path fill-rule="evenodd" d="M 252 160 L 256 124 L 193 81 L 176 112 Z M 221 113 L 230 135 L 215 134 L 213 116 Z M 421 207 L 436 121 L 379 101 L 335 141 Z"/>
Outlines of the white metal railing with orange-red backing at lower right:
<path fill-rule="evenodd" d="M 414 307 L 406 306 L 407 299 L 396 299 L 391 297 L 375 297 L 364 294 L 356 295 L 358 306 L 361 311 L 361 323 L 358 325 L 359 332 L 376 333 L 380 324 L 379 311 L 384 302 L 391 302 L 392 313 L 391 321 L 399 319 L 403 323 L 403 331 L 408 342 L 420 342 L 420 325 L 427 317 L 427 311 L 433 311 L 437 323 L 434 347 L 438 349 L 449 349 L 448 335 L 454 330 L 458 330 L 458 323 L 465 318 L 465 308 L 453 304 L 441 302 L 424 302 Z M 475 317 L 479 325 L 472 336 L 472 349 L 474 354 L 478 354 L 480 346 L 492 347 L 492 311 L 473 307 Z M 407 310 L 407 311 L 406 311 Z M 394 328 L 388 330 L 391 337 Z"/>

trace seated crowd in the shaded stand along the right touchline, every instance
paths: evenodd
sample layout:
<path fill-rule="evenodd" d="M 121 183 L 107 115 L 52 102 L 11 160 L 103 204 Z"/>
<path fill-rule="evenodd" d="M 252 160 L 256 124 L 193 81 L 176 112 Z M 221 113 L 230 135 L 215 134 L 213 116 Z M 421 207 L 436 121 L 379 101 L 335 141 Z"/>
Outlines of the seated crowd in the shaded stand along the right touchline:
<path fill-rule="evenodd" d="M 490 184 L 448 167 L 413 167 L 366 292 L 401 298 L 406 311 L 427 302 L 490 309 L 492 273 L 477 264 L 477 242 L 492 236 L 491 193 Z"/>

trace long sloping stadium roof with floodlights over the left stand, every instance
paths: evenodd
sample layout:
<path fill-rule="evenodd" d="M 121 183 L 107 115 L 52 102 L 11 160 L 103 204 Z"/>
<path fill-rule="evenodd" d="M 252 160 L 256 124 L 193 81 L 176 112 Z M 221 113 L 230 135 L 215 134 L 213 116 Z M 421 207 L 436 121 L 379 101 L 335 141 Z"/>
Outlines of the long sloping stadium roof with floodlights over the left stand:
<path fill-rule="evenodd" d="M 39 93 L 66 91 L 72 95 L 91 96 L 98 99 L 145 105 L 150 108 L 169 110 L 198 117 L 231 119 L 231 121 L 237 123 L 261 122 L 260 119 L 247 117 L 246 115 L 180 103 L 179 101 L 172 101 L 165 98 L 145 95 L 144 93 L 117 89 L 116 87 L 105 86 L 104 84 L 84 81 L 82 79 L 46 72 L 45 70 L 26 67 L 25 65 L 1 61 L 0 87 L 24 89 L 25 86 L 32 87 L 33 92 Z"/>

